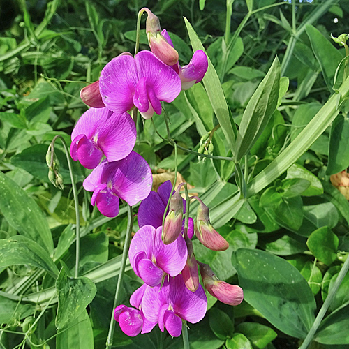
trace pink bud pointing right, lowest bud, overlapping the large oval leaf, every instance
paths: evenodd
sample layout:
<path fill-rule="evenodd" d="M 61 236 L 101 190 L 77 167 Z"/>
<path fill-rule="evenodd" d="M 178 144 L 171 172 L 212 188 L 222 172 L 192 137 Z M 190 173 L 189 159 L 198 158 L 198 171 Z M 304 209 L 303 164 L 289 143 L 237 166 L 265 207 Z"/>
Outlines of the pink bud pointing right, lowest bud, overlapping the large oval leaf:
<path fill-rule="evenodd" d="M 222 303 L 229 305 L 238 305 L 242 302 L 244 292 L 241 287 L 218 280 L 209 265 L 202 263 L 199 263 L 199 265 L 202 281 L 210 295 L 216 297 Z"/>

